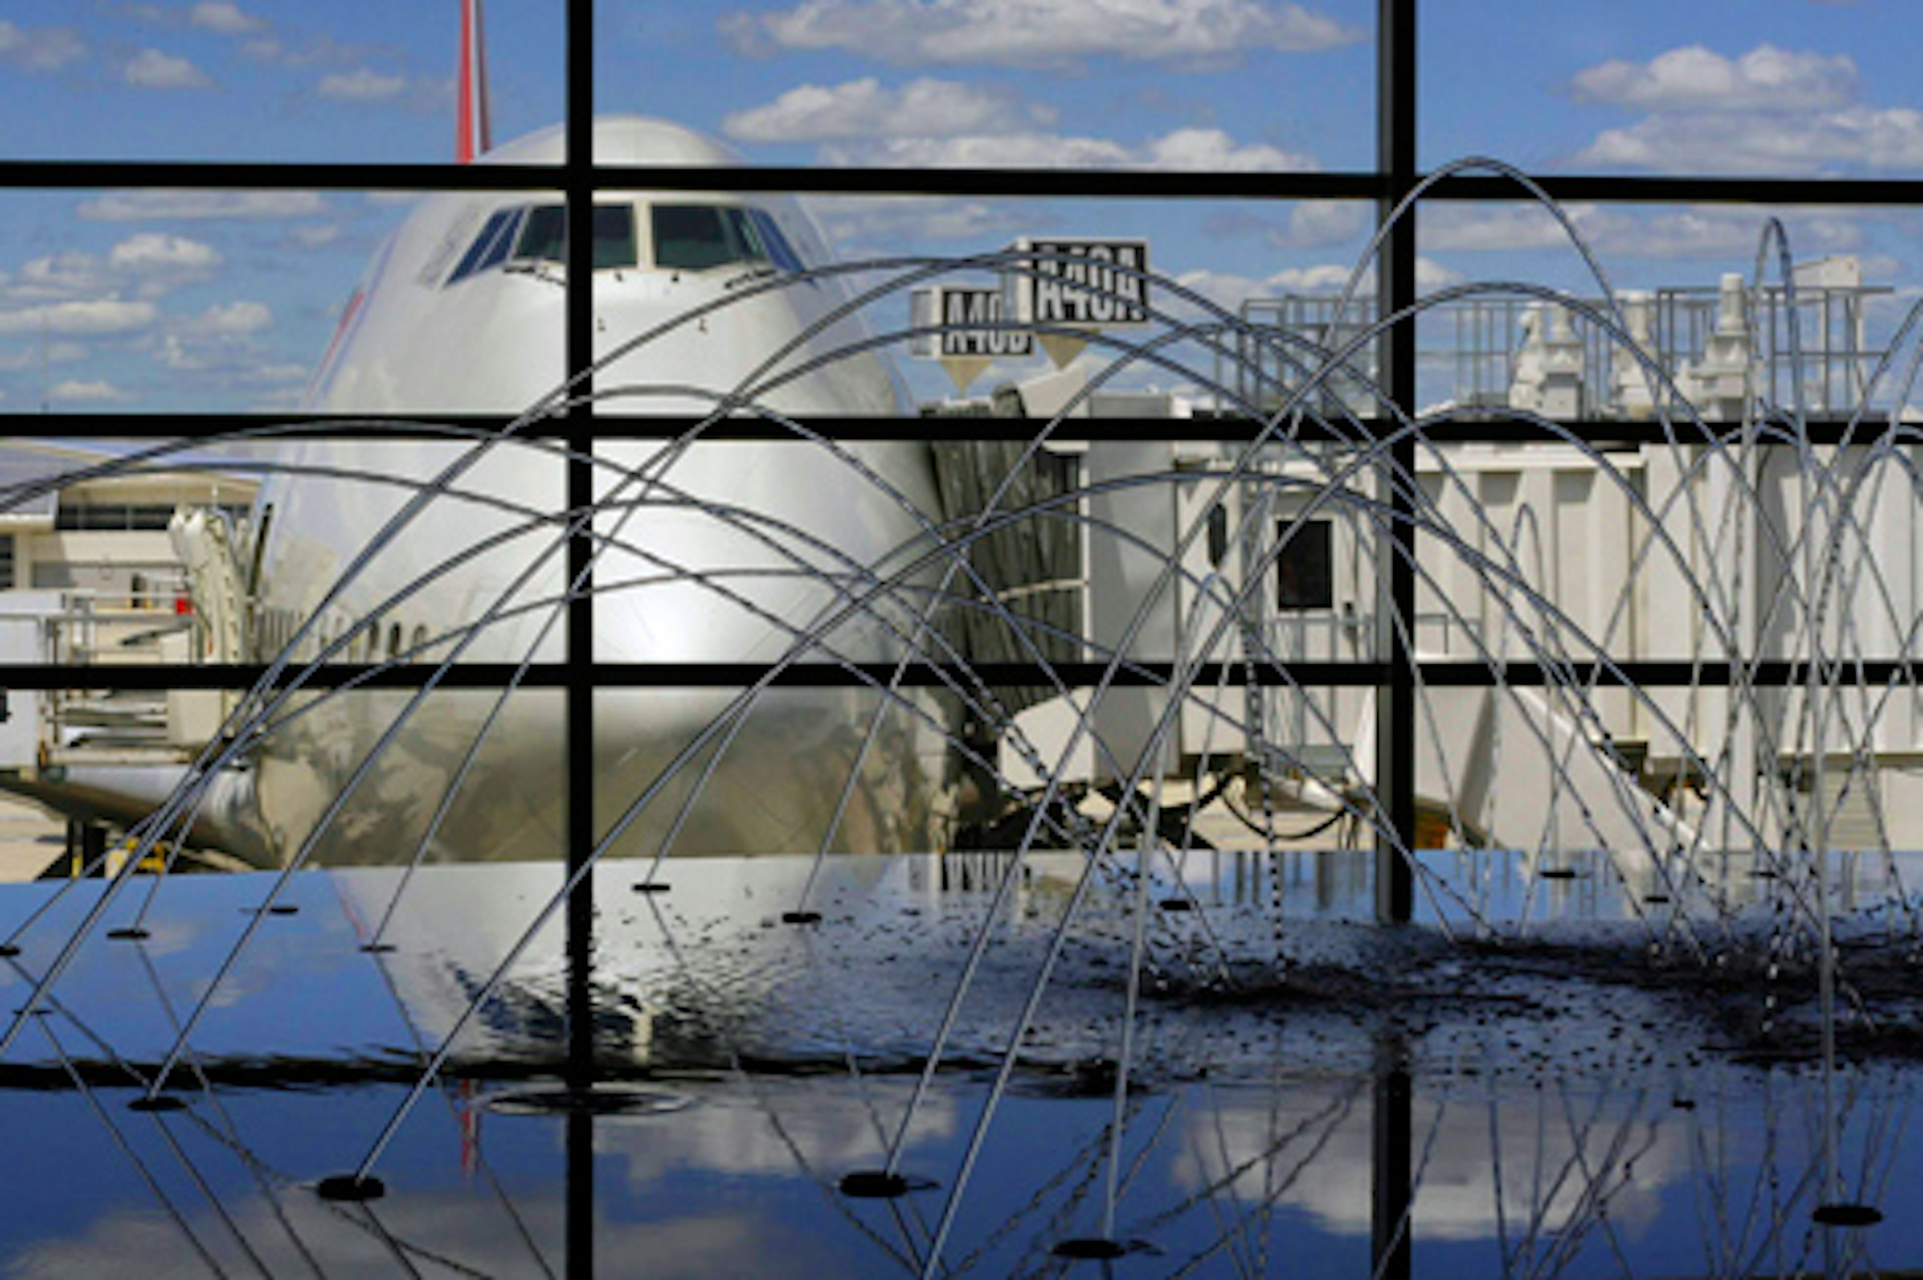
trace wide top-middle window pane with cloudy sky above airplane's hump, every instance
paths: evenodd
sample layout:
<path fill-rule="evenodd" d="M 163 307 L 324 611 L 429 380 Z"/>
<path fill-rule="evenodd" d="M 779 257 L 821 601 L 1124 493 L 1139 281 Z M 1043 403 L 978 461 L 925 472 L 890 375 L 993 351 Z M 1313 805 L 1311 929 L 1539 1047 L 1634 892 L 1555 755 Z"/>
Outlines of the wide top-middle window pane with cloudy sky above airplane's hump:
<path fill-rule="evenodd" d="M 1375 8 L 604 2 L 596 108 L 756 163 L 1356 169 L 1375 154 Z"/>

